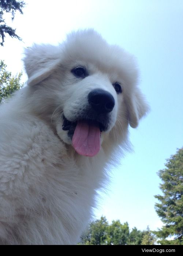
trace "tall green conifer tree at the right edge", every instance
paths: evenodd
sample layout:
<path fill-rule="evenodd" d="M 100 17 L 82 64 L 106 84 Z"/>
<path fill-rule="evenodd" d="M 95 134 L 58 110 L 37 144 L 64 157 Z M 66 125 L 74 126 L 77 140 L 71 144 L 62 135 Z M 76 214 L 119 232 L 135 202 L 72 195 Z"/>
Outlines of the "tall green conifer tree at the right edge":
<path fill-rule="evenodd" d="M 158 172 L 163 195 L 155 196 L 160 201 L 156 212 L 165 225 L 155 234 L 162 245 L 183 245 L 183 148 L 167 159 L 165 166 Z"/>

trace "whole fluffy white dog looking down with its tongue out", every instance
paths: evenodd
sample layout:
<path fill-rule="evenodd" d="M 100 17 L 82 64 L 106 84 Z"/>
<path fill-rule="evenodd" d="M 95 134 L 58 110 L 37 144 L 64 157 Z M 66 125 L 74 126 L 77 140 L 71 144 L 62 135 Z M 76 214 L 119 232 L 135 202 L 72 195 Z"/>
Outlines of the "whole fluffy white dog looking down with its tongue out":
<path fill-rule="evenodd" d="M 24 61 L 27 86 L 0 107 L 0 244 L 76 244 L 107 163 L 147 112 L 137 66 L 93 30 Z"/>

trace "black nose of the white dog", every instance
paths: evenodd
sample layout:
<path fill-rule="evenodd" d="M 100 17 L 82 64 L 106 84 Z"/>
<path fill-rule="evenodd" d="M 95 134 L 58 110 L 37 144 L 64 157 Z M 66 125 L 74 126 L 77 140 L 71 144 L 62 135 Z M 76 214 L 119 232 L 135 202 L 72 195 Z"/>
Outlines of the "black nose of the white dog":
<path fill-rule="evenodd" d="M 102 89 L 90 91 L 88 102 L 97 113 L 109 113 L 115 106 L 115 100 L 111 93 Z"/>

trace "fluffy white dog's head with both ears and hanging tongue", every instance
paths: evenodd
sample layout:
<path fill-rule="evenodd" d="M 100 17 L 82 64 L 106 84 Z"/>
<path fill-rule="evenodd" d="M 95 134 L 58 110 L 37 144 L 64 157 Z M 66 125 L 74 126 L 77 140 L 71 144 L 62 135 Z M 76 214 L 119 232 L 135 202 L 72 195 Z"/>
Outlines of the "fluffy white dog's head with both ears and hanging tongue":
<path fill-rule="evenodd" d="M 128 124 L 137 127 L 147 112 L 134 57 L 93 30 L 71 33 L 59 46 L 34 45 L 25 67 L 33 111 L 81 155 L 121 143 Z"/>

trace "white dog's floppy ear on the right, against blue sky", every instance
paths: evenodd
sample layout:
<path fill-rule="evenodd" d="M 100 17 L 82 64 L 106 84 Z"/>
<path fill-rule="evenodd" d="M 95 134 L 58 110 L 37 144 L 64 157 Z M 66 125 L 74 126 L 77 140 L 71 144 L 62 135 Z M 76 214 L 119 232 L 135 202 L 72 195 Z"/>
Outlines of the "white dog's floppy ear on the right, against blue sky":
<path fill-rule="evenodd" d="M 146 115 L 150 108 L 138 88 L 135 89 L 131 97 L 127 98 L 128 121 L 132 128 L 136 128 L 139 120 Z"/>

